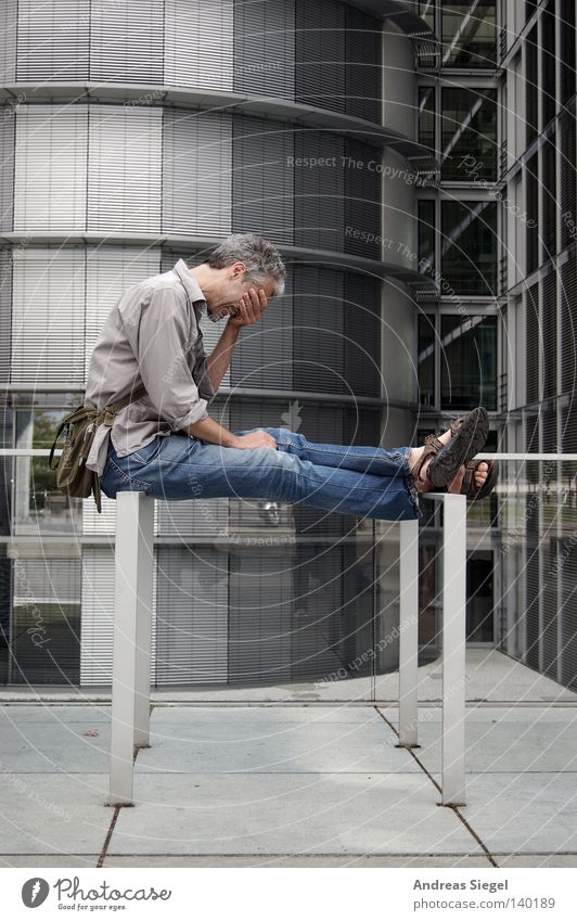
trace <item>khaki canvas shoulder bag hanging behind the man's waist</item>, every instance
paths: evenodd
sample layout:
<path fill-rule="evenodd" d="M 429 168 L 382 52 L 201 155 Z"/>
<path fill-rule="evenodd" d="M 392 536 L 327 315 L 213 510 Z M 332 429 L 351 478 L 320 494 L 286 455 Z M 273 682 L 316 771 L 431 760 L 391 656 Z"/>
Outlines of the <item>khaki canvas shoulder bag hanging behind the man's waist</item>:
<path fill-rule="evenodd" d="M 93 470 L 88 470 L 86 466 L 97 428 L 102 423 L 110 425 L 120 409 L 124 409 L 129 402 L 140 399 L 145 393 L 145 387 L 140 386 L 128 397 L 108 404 L 104 409 L 97 409 L 91 404 L 85 402 L 77 406 L 73 412 L 69 412 L 63 419 L 48 459 L 50 469 L 56 471 L 56 487 L 62 493 L 80 499 L 86 499 L 92 493 L 97 509 L 102 512 L 100 478 Z M 56 466 L 52 466 L 56 443 L 63 428 L 66 428 L 64 447 Z"/>

